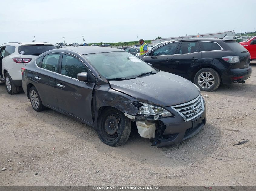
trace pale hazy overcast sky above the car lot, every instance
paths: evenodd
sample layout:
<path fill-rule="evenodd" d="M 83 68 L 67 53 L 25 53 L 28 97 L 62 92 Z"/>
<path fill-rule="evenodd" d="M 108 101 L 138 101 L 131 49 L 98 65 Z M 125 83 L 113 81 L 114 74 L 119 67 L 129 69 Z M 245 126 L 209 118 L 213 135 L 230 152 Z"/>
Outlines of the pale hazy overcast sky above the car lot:
<path fill-rule="evenodd" d="M 256 0 L 0 0 L 0 44 L 115 43 L 256 29 Z"/>

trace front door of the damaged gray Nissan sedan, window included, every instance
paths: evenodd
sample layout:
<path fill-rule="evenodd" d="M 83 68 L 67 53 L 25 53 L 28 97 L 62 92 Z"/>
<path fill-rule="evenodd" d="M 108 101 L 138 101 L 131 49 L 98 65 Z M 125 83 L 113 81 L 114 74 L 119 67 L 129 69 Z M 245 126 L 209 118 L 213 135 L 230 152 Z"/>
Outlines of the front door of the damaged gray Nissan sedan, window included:
<path fill-rule="evenodd" d="M 56 80 L 59 110 L 92 123 L 91 100 L 95 84 L 78 81 L 77 74 L 90 72 L 75 56 L 63 54 Z"/>

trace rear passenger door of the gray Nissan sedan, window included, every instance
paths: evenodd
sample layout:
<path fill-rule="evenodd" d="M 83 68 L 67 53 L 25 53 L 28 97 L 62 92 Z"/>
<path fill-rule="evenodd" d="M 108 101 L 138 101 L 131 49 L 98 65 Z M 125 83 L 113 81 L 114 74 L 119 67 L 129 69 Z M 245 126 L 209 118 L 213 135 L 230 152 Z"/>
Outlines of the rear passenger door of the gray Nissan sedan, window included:
<path fill-rule="evenodd" d="M 56 96 L 56 76 L 58 63 L 60 62 L 60 54 L 47 54 L 42 61 L 37 60 L 38 68 L 32 75 L 35 81 L 35 87 L 41 97 L 43 105 L 58 109 L 58 101 Z"/>

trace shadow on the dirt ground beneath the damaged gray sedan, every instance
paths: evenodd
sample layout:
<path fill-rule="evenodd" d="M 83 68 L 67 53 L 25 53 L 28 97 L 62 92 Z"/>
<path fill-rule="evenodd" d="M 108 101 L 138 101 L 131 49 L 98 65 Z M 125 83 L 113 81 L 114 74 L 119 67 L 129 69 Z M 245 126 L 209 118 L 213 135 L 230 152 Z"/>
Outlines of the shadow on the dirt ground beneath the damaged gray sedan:
<path fill-rule="evenodd" d="M 120 158 L 130 158 L 132 161 L 137 161 L 136 164 L 144 164 L 146 160 L 147 163 L 159 165 L 160 167 L 162 164 L 184 165 L 185 163 L 182 161 L 186 160 L 199 162 L 209 155 L 215 155 L 215 151 L 221 142 L 213 138 L 214 135 L 220 134 L 220 129 L 214 125 L 206 124 L 198 134 L 183 141 L 179 145 L 157 148 L 156 146 L 151 146 L 148 138 L 140 137 L 136 126 L 133 125 L 126 144 L 111 147 L 100 141 L 97 132 L 92 127 L 69 118 L 64 114 L 51 109 L 37 113 L 31 106 L 26 107 L 25 110 L 28 113 L 28 118 L 34 118 L 32 121 L 38 120 L 37 124 L 47 123 L 49 126 L 58 128 L 59 131 L 65 131 L 70 137 L 75 136 L 81 142 L 89 142 L 89 145 L 95 145 L 94 149 L 99 153 L 104 151 L 104 153 L 115 154 L 119 156 L 118 160 Z M 198 151 L 198 153 L 195 154 L 195 151 Z M 148 160 L 148 158 L 151 158 L 151 160 Z"/>

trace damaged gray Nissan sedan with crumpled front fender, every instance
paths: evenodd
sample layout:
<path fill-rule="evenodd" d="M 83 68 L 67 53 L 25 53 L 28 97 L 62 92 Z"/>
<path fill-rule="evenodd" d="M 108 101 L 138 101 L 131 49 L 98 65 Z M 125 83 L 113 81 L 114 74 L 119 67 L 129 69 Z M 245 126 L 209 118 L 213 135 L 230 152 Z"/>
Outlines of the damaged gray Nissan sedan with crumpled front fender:
<path fill-rule="evenodd" d="M 177 145 L 206 123 L 196 85 L 120 49 L 50 50 L 22 68 L 22 86 L 35 111 L 78 119 L 110 146 L 125 144 L 132 123 L 158 147 Z"/>

